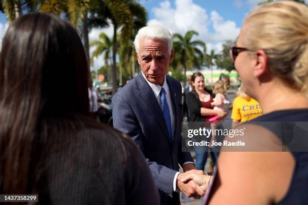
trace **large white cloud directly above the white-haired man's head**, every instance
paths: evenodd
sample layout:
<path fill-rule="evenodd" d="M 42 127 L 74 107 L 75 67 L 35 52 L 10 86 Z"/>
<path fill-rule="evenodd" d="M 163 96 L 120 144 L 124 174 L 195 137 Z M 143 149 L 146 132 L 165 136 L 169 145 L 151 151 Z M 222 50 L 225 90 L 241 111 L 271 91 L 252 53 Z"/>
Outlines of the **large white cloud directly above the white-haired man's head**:
<path fill-rule="evenodd" d="M 176 0 L 175 8 L 171 7 L 169 1 L 165 1 L 151 12 L 154 18 L 147 22 L 148 25 L 160 25 L 171 33 L 181 35 L 195 30 L 199 35 L 194 36 L 194 39 L 203 40 L 207 45 L 207 52 L 211 49 L 220 51 L 223 41 L 236 39 L 240 32 L 235 22 L 224 21 L 216 11 L 212 11 L 209 17 L 207 11 L 192 0 Z M 210 27 L 213 32 L 209 31 Z"/>

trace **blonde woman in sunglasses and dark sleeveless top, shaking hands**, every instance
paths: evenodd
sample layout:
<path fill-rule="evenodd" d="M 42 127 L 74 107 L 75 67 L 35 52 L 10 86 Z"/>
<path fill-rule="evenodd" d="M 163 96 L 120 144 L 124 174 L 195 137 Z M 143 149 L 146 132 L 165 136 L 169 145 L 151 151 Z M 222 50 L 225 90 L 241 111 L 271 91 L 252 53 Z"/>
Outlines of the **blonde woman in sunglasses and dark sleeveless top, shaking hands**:
<path fill-rule="evenodd" d="M 246 17 L 230 51 L 245 92 L 260 102 L 263 115 L 238 126 L 246 128 L 244 136 L 228 140 L 254 142 L 259 152 L 224 152 L 228 149 L 222 147 L 207 202 L 306 204 L 307 144 L 298 144 L 306 149 L 298 152 L 290 143 L 284 143 L 284 137 L 306 142 L 307 133 L 297 127 L 292 132 L 272 132 L 275 130 L 267 124 L 285 125 L 308 119 L 308 7 L 292 1 L 262 5 Z M 279 147 L 279 143 L 287 149 L 272 149 L 275 145 Z M 260 151 L 263 147 L 275 152 Z M 195 181 L 194 177 L 190 176 Z"/>

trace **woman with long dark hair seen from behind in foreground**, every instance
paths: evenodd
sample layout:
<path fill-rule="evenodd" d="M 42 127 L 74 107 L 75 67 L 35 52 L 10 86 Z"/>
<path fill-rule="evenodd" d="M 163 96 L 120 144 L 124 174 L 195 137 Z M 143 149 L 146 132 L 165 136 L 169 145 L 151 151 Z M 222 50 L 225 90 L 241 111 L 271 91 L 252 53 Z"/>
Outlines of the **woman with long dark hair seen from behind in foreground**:
<path fill-rule="evenodd" d="M 65 21 L 29 14 L 10 25 L 0 56 L 0 192 L 39 194 L 42 204 L 158 204 L 134 143 L 88 118 L 88 74 Z"/>

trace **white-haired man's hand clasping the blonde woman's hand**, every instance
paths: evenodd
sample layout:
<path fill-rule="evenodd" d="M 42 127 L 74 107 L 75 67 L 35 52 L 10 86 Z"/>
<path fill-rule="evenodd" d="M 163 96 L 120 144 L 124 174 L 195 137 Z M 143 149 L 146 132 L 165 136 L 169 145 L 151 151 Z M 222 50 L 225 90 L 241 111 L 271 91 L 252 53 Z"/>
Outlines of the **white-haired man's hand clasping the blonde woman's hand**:
<path fill-rule="evenodd" d="M 192 169 L 185 173 L 180 173 L 177 178 L 177 186 L 187 197 L 203 196 L 204 191 L 193 180 L 186 180 L 185 182 L 181 181 L 182 179 L 186 179 L 192 173 L 203 174 L 204 172 L 201 170 Z"/>

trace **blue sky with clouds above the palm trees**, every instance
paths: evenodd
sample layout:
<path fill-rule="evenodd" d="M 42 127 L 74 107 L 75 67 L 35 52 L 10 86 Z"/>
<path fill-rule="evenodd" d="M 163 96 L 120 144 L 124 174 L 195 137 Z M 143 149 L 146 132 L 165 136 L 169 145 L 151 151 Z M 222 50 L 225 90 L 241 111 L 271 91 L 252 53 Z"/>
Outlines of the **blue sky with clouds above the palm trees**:
<path fill-rule="evenodd" d="M 245 16 L 262 0 L 139 0 L 148 13 L 148 25 L 166 27 L 171 33 L 184 35 L 189 30 L 199 33 L 194 39 L 206 43 L 207 52 L 219 52 L 226 40 L 239 35 Z M 308 3 L 308 0 L 305 0 Z M 0 13 L 0 47 L 5 34 L 6 17 Z M 98 38 L 101 32 L 109 37 L 113 27 L 92 29 L 89 40 Z M 94 48 L 91 48 L 92 50 Z M 91 50 L 90 50 L 91 51 Z M 102 57 L 94 60 L 94 67 L 101 67 Z"/>

